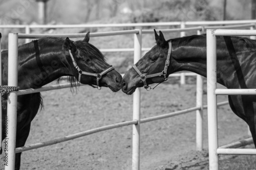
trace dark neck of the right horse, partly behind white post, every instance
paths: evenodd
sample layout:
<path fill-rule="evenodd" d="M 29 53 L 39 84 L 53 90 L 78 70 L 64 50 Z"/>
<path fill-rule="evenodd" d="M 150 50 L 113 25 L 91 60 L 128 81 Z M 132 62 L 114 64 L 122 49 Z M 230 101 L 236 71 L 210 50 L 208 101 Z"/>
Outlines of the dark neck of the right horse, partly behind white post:
<path fill-rule="evenodd" d="M 219 48 L 222 46 L 225 47 L 224 42 L 217 39 L 217 44 Z M 203 77 L 207 76 L 207 62 L 206 62 L 206 37 L 205 36 L 196 36 L 192 40 L 182 45 L 177 45 L 178 42 L 173 42 L 172 58 L 176 62 L 173 62 L 174 72 L 177 71 L 191 71 L 195 72 Z M 226 77 L 230 76 L 230 72 L 221 71 L 218 66 L 225 65 L 223 61 L 227 58 L 227 51 L 220 50 L 217 53 L 217 82 L 225 85 L 223 80 Z"/>

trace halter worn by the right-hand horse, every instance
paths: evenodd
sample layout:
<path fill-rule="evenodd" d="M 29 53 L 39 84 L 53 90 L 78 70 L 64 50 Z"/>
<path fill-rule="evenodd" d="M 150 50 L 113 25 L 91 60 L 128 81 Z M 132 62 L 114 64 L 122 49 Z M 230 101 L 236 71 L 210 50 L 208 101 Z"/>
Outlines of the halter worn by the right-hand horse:
<path fill-rule="evenodd" d="M 147 85 L 146 83 L 146 79 L 148 78 L 153 78 L 153 77 L 158 77 L 158 76 L 164 76 L 164 81 L 166 81 L 168 78 L 166 78 L 166 73 L 167 73 L 167 68 L 169 66 L 169 63 L 170 63 L 170 55 L 172 54 L 172 41 L 169 41 L 169 48 L 168 48 L 168 54 L 167 54 L 167 58 L 166 58 L 166 61 L 165 61 L 165 66 L 164 66 L 164 69 L 162 72 L 158 72 L 156 74 L 152 74 L 152 75 L 143 75 L 140 70 L 137 68 L 136 65 L 133 65 L 133 68 L 135 69 L 135 71 L 139 74 L 143 84 L 144 84 L 144 88 L 147 89 L 147 88 L 150 88 L 152 89 L 149 85 Z M 155 86 L 156 87 L 156 86 Z M 155 88 L 154 87 L 154 88 Z M 153 88 L 153 89 L 154 89 Z M 149 91 L 149 90 L 148 90 Z"/>

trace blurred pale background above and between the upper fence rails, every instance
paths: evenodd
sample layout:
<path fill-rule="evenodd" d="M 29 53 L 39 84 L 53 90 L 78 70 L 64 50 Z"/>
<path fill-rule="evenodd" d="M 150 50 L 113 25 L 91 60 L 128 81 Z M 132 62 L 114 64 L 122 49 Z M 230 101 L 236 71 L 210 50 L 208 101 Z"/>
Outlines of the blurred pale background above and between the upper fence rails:
<path fill-rule="evenodd" d="M 0 25 L 62 25 L 92 23 L 137 23 L 197 20 L 242 20 L 255 18 L 256 0 L 0 0 Z M 180 26 L 143 27 L 172 29 Z M 130 30 L 129 28 L 31 29 L 30 33 L 86 33 Z M 2 48 L 8 48 L 8 33 L 25 29 L 0 29 Z M 195 31 L 186 35 L 197 34 Z M 165 39 L 180 33 L 164 34 Z M 133 48 L 133 35 L 91 38 L 98 48 Z M 73 39 L 77 40 L 77 39 Z M 19 44 L 25 43 L 24 39 Z M 142 47 L 155 45 L 154 34 L 145 34 Z M 124 73 L 133 65 L 133 52 L 103 53 L 107 61 Z"/>

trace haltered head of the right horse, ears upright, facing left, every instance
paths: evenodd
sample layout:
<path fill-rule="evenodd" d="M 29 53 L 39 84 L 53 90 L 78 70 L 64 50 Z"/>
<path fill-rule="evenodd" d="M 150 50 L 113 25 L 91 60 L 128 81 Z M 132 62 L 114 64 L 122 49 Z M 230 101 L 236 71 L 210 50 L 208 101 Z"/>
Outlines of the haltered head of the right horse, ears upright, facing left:
<path fill-rule="evenodd" d="M 148 88 L 149 84 L 161 83 L 167 80 L 170 74 L 167 69 L 169 61 L 166 63 L 169 43 L 161 31 L 159 35 L 156 30 L 154 32 L 157 44 L 130 68 L 122 79 L 122 91 L 126 94 L 132 94 L 137 87 Z"/>

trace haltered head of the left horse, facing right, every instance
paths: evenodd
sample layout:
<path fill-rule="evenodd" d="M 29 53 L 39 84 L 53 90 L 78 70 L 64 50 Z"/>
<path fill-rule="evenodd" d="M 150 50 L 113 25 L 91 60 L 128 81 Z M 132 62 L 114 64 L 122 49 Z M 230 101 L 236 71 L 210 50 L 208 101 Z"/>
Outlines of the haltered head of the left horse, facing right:
<path fill-rule="evenodd" d="M 105 62 L 104 56 L 94 45 L 89 43 L 90 32 L 83 40 L 72 41 L 68 37 L 63 43 L 62 50 L 65 60 L 71 68 L 71 75 L 78 82 L 97 88 L 109 87 L 116 92 L 121 89 L 121 75 Z"/>

